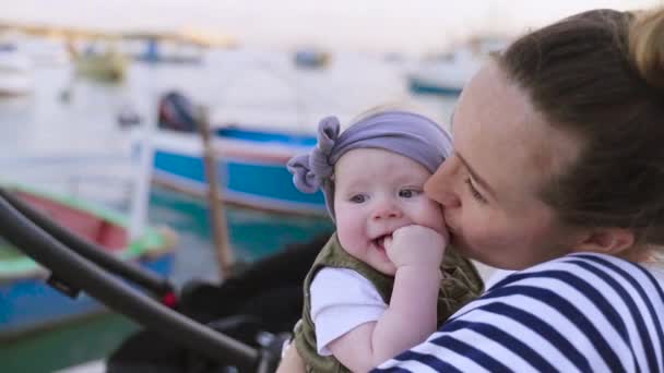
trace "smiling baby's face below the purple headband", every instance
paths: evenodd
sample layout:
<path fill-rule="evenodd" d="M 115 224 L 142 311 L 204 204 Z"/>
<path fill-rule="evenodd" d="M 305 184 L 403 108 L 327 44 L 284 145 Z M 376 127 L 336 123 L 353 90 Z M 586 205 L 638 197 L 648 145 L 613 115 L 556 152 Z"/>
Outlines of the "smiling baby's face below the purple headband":
<path fill-rule="evenodd" d="M 410 225 L 444 231 L 440 205 L 423 193 L 430 176 L 420 164 L 388 151 L 363 148 L 341 157 L 334 168 L 334 214 L 342 246 L 394 275 L 382 245 L 386 237 Z"/>

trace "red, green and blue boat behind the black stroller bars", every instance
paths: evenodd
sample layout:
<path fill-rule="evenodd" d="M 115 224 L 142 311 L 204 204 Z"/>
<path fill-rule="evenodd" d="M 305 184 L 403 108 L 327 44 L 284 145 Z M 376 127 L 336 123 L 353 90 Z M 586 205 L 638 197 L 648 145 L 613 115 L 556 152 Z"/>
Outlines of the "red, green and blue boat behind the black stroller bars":
<path fill-rule="evenodd" d="M 116 257 L 169 275 L 176 241 L 173 231 L 149 228 L 129 241 L 128 219 L 114 210 L 25 185 L 5 188 Z M 84 293 L 72 299 L 56 290 L 46 284 L 48 277 L 45 268 L 0 240 L 0 340 L 106 311 Z"/>

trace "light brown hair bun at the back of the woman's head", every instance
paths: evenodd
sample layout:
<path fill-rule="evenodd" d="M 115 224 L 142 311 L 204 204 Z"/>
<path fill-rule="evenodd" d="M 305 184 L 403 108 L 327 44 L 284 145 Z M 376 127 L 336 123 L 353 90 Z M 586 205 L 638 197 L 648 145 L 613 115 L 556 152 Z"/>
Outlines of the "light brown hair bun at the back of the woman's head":
<path fill-rule="evenodd" d="M 648 84 L 664 89 L 664 8 L 635 15 L 629 33 L 631 59 Z"/>

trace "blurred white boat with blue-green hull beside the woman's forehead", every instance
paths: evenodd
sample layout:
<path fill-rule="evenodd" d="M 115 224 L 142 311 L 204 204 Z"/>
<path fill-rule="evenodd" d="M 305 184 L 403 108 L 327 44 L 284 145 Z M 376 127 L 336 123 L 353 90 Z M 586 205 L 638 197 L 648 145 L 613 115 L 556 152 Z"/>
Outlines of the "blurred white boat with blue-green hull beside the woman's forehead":
<path fill-rule="evenodd" d="M 506 45 L 502 39 L 474 39 L 449 53 L 423 60 L 408 74 L 415 94 L 458 95 L 490 52 Z"/>

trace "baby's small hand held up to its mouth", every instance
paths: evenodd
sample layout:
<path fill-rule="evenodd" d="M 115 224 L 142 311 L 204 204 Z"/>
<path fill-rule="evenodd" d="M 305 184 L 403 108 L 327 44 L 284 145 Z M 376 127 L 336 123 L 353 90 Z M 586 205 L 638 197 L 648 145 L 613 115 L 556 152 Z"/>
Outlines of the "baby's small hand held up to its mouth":
<path fill-rule="evenodd" d="M 402 266 L 440 267 L 448 244 L 446 236 L 423 226 L 406 226 L 386 239 L 386 253 L 396 268 Z"/>

